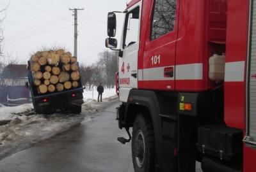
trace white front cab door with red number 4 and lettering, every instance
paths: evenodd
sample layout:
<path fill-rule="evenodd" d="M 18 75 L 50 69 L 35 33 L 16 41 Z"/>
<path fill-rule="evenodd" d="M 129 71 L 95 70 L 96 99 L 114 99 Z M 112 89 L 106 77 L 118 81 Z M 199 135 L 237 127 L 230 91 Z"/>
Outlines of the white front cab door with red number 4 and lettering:
<path fill-rule="evenodd" d="M 119 98 L 127 101 L 129 90 L 138 89 L 138 50 L 140 45 L 141 1 L 134 4 L 125 15 L 122 35 L 122 55 L 119 57 Z"/>

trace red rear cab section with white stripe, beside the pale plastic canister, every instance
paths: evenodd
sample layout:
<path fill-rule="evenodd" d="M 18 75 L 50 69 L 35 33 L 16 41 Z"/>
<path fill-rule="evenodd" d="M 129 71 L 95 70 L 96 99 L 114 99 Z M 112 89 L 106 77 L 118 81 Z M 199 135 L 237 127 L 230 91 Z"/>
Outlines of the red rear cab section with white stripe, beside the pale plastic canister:
<path fill-rule="evenodd" d="M 227 0 L 180 1 L 176 90 L 204 91 L 217 87 L 209 80 L 208 61 L 214 52 L 225 52 L 226 21 Z"/>

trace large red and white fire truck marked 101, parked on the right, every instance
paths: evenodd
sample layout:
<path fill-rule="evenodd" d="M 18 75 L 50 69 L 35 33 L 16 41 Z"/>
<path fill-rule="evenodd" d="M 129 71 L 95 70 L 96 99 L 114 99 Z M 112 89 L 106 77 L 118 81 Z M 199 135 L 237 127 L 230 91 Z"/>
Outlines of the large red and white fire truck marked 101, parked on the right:
<path fill-rule="evenodd" d="M 120 42 L 108 13 L 106 47 L 134 170 L 256 171 L 256 1 L 132 0 L 122 13 Z"/>

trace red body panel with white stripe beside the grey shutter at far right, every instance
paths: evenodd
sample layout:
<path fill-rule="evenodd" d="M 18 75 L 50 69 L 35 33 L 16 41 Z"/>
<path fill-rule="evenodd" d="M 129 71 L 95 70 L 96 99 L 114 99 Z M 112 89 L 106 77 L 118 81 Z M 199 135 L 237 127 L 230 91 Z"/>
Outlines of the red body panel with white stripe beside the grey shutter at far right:
<path fill-rule="evenodd" d="M 225 122 L 243 129 L 246 124 L 246 58 L 248 47 L 249 1 L 229 0 L 225 66 Z M 256 150 L 243 150 L 243 171 L 256 171 Z"/>

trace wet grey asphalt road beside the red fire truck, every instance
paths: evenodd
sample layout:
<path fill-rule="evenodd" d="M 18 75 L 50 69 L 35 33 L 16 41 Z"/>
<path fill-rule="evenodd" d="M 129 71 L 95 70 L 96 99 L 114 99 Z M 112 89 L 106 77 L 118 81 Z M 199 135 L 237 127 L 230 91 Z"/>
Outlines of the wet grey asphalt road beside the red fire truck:
<path fill-rule="evenodd" d="M 2 159 L 0 172 L 134 171 L 131 143 L 123 145 L 116 140 L 127 137 L 115 120 L 119 104 L 114 101 L 104 112 L 95 113 L 80 125 Z M 202 171 L 199 163 L 196 171 Z"/>

